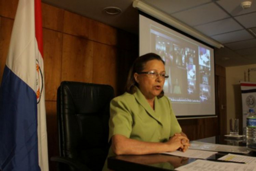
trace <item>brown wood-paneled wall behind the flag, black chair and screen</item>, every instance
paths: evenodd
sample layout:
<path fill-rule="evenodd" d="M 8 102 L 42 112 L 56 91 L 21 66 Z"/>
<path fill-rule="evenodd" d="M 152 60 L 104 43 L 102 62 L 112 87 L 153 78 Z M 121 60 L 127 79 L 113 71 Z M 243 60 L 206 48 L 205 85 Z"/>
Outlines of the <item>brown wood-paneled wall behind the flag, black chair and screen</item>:
<path fill-rule="evenodd" d="M 0 0 L 0 82 L 18 0 Z M 130 66 L 138 56 L 136 35 L 90 18 L 42 4 L 48 155 L 58 155 L 56 92 L 62 81 L 109 84 L 124 92 Z M 217 72 L 216 72 L 217 73 Z M 190 139 L 218 135 L 219 119 L 179 120 Z M 56 164 L 50 162 L 50 170 Z"/>

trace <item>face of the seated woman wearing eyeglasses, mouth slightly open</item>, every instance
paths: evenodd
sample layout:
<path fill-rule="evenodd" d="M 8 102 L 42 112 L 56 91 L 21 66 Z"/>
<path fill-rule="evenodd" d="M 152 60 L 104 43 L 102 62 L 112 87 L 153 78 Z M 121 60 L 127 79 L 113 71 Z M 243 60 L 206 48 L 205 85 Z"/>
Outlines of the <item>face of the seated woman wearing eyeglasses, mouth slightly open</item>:
<path fill-rule="evenodd" d="M 148 61 L 142 72 L 154 71 L 159 74 L 165 74 L 165 68 L 162 61 Z M 162 90 L 165 79 L 158 75 L 156 78 L 151 78 L 148 74 L 134 74 L 135 81 L 139 84 L 139 88 L 146 99 L 153 99 L 158 96 Z"/>

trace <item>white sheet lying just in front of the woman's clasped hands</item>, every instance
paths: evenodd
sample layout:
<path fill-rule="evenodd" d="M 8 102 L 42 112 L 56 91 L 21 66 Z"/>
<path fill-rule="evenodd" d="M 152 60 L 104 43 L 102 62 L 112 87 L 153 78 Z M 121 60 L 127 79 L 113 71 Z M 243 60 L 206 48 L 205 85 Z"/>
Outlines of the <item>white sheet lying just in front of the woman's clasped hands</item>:
<path fill-rule="evenodd" d="M 181 152 L 176 150 L 175 152 L 169 152 L 169 153 L 163 153 L 163 154 L 170 154 L 170 155 L 180 156 L 180 157 L 206 159 L 216 153 L 218 152 L 208 152 L 208 151 L 202 151 L 202 150 L 187 149 L 186 152 Z"/>

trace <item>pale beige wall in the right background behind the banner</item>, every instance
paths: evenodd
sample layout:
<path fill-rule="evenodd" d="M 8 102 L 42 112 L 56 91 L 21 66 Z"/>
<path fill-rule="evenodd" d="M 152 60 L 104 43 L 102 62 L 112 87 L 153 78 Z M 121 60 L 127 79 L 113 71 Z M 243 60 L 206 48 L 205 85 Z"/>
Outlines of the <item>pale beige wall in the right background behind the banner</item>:
<path fill-rule="evenodd" d="M 242 134 L 242 97 L 240 81 L 248 82 L 248 69 L 256 68 L 256 64 L 226 68 L 227 86 L 227 131 L 229 133 L 229 119 L 239 118 L 240 134 Z M 250 82 L 256 82 L 256 72 L 250 72 Z"/>

